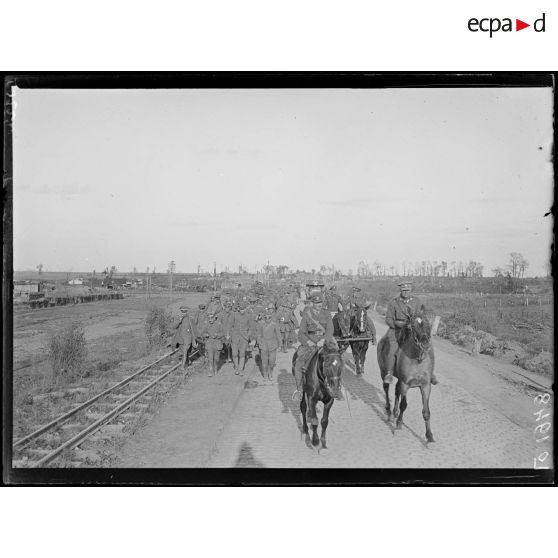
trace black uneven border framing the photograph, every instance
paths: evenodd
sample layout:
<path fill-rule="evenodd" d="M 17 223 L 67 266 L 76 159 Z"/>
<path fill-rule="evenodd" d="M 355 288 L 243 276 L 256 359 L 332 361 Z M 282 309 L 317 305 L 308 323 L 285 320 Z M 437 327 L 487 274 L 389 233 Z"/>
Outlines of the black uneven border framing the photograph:
<path fill-rule="evenodd" d="M 115 72 L 4 73 L 2 462 L 9 485 L 548 485 L 554 470 L 527 469 L 13 469 L 13 147 L 11 88 L 487 88 L 551 87 L 555 72 Z M 553 142 L 556 142 L 554 125 Z M 556 160 L 553 147 L 553 164 Z M 552 217 L 554 212 L 552 210 Z M 553 232 L 554 238 L 554 232 Z M 549 247 L 554 265 L 554 244 Z M 553 268 L 554 270 L 554 268 Z M 555 275 L 553 271 L 553 281 Z M 556 301 L 554 301 L 556 305 Z M 556 307 L 555 307 L 556 308 Z M 556 352 L 556 337 L 554 337 Z M 554 389 L 554 386 L 553 386 Z M 555 427 L 553 425 L 555 441 Z M 482 440 L 478 441 L 482 444 Z M 553 445 L 554 463 L 556 457 Z"/>

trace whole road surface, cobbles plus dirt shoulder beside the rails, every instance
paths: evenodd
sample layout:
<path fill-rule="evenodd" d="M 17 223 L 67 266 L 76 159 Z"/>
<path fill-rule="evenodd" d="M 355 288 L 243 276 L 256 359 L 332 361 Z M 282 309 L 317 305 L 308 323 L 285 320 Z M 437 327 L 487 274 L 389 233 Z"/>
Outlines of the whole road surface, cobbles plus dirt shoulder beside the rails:
<path fill-rule="evenodd" d="M 385 331 L 373 316 L 378 334 Z M 485 356 L 473 357 L 435 339 L 440 384 L 433 388 L 431 424 L 436 442 L 426 444 L 418 389 L 410 390 L 405 425 L 386 422 L 384 394 L 370 347 L 358 377 L 350 350 L 345 356 L 344 401 L 330 415 L 327 453 L 301 435 L 289 353 L 279 353 L 276 380 L 262 381 L 249 361 L 248 376 L 225 364 L 215 378 L 198 373 L 143 430 L 122 448 L 123 467 L 365 467 L 533 468 L 551 439 L 535 428 L 537 395 L 550 382 Z M 552 409 L 552 401 L 546 404 Z M 542 419 L 551 420 L 550 419 Z M 552 434 L 552 432 L 550 432 Z M 541 439 L 537 442 L 537 439 Z M 547 457 L 539 466 L 552 466 Z"/>

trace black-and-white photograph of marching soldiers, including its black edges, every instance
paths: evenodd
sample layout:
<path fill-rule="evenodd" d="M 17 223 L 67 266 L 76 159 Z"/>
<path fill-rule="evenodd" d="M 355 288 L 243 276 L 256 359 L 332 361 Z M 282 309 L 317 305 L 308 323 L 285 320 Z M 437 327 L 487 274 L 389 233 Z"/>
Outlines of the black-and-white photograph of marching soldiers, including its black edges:
<path fill-rule="evenodd" d="M 6 80 L 10 475 L 552 482 L 552 76 L 149 78 Z"/>

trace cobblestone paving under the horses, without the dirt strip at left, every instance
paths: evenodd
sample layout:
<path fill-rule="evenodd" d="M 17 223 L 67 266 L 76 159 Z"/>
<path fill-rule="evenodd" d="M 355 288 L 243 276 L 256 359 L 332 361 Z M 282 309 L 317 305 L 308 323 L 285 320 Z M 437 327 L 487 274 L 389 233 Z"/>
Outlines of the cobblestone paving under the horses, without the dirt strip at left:
<path fill-rule="evenodd" d="M 379 335 L 385 331 L 379 321 L 376 328 Z M 376 347 L 371 346 L 362 377 L 354 374 L 347 351 L 346 398 L 336 401 L 330 414 L 329 451 L 313 449 L 301 434 L 300 411 L 291 400 L 291 351 L 279 353 L 274 384 L 252 372 L 205 466 L 533 468 L 541 449 L 534 436 L 534 397 L 544 390 L 506 380 L 491 368 L 492 359 L 472 357 L 445 341 L 437 339 L 435 351 L 440 384 L 433 387 L 430 402 L 434 444 L 425 442 L 418 389 L 409 391 L 403 429 L 394 431 L 386 422 Z"/>

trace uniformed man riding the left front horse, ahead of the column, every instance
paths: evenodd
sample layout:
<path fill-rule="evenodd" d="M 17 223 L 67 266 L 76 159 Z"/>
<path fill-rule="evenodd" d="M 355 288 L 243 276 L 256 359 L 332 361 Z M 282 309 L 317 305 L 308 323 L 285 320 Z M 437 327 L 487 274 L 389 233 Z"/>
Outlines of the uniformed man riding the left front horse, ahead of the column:
<path fill-rule="evenodd" d="M 302 315 L 298 340 L 300 346 L 296 352 L 296 362 L 294 375 L 296 390 L 293 393 L 293 400 L 302 399 L 302 388 L 306 367 L 312 356 L 324 345 L 328 348 L 338 350 L 337 342 L 333 337 L 333 321 L 331 314 L 323 308 L 323 297 L 321 294 L 312 295 L 311 306 Z"/>

